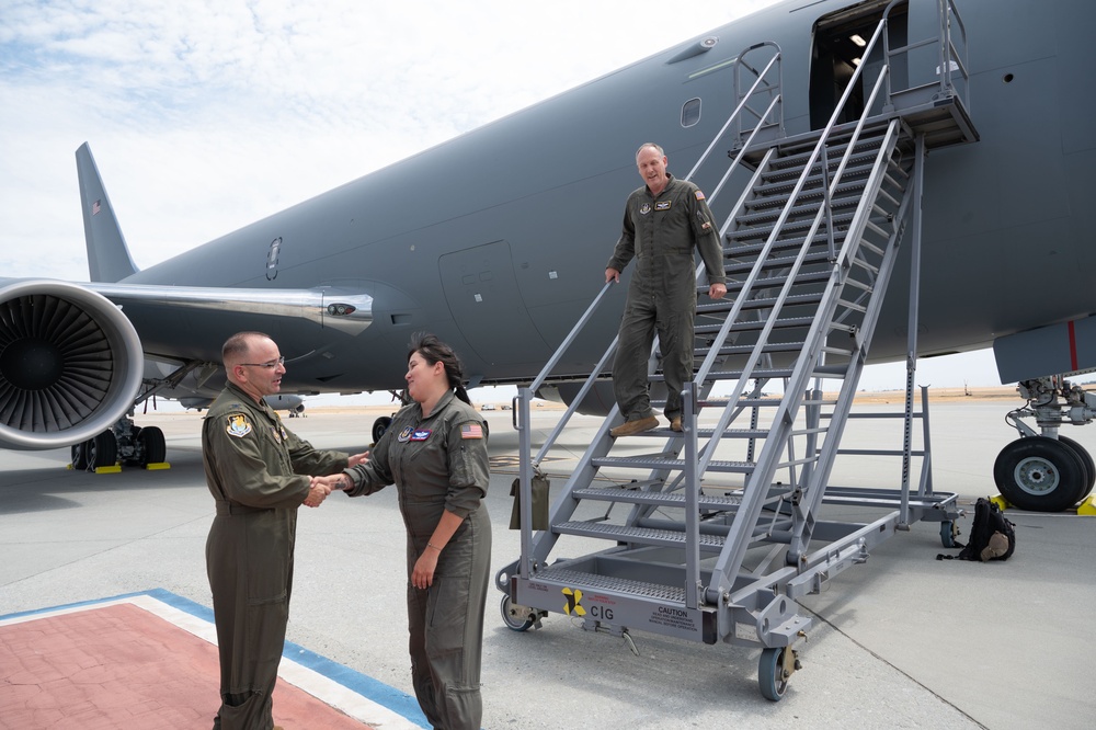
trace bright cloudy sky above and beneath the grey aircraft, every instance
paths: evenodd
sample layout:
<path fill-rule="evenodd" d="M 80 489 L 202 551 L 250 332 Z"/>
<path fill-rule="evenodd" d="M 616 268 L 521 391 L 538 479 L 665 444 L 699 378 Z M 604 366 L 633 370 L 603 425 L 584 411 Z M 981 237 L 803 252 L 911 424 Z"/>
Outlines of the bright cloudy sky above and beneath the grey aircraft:
<path fill-rule="evenodd" d="M 0 276 L 87 280 L 84 141 L 144 269 L 773 3 L 0 0 Z"/>

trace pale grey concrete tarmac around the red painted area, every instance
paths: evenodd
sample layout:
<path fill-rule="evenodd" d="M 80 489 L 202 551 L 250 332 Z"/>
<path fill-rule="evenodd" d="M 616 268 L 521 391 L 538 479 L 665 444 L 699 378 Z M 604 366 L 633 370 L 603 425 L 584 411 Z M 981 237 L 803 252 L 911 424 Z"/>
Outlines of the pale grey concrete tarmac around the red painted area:
<path fill-rule="evenodd" d="M 934 403 L 934 483 L 970 507 L 996 493 L 997 450 L 1015 437 L 1007 401 Z M 882 407 L 872 406 L 868 409 Z M 894 410 L 895 407 L 891 407 Z M 898 407 L 900 410 L 900 406 Z M 286 425 L 321 448 L 359 450 L 377 412 L 309 412 Z M 518 557 L 507 529 L 517 474 L 511 413 L 491 425 L 492 570 Z M 534 411 L 539 443 L 559 413 Z M 66 470 L 68 449 L 0 452 L 0 616 L 163 589 L 209 606 L 204 548 L 214 505 L 201 417 L 138 417 L 168 438 L 171 469 Z M 553 492 L 598 420 L 579 418 L 545 466 Z M 1096 430 L 1063 432 L 1096 453 Z M 897 448 L 901 429 L 852 422 L 848 437 Z M 897 459 L 838 465 L 833 483 L 897 488 Z M 960 521 L 964 540 L 970 516 Z M 489 596 L 483 640 L 486 728 L 1089 728 L 1096 725 L 1088 631 L 1096 605 L 1096 518 L 1009 511 L 1007 562 L 938 561 L 937 523 L 915 524 L 802 600 L 814 627 L 784 699 L 757 688 L 758 651 L 635 632 L 639 655 L 559 614 L 515 632 Z M 411 693 L 404 531 L 389 488 L 302 509 L 287 639 Z M 603 548 L 598 546 L 597 549 Z M 209 677 L 216 694 L 217 677 Z M 0 687 L 0 692 L 3 688 Z"/>

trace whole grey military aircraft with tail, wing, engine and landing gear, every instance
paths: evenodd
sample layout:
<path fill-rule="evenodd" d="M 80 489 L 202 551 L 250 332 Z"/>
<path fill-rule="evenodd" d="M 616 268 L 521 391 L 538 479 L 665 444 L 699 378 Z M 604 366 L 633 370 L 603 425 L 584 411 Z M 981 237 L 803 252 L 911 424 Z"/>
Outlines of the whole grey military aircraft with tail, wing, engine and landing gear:
<path fill-rule="evenodd" d="M 865 55 L 884 15 L 886 37 Z M 941 18 L 945 41 L 920 45 L 940 37 Z M 1003 457 L 1026 471 L 1003 490 L 1062 509 L 1096 478 L 1084 449 L 1058 437 L 1094 413 L 1063 379 L 1096 368 L 1094 26 L 1088 0 L 788 0 L 142 271 L 84 145 L 91 282 L 0 278 L 0 446 L 72 445 L 79 466 L 161 460 L 162 434 L 127 413 L 152 393 L 213 398 L 220 345 L 240 330 L 278 342 L 286 393 L 399 389 L 416 330 L 452 343 L 473 387 L 527 384 L 602 286 L 641 142 L 661 144 L 678 176 L 715 150 L 722 166 L 693 179 L 722 217 L 755 184 L 757 155 L 720 181 L 747 146 L 868 107 L 893 116 L 904 89 L 935 84 L 911 103 L 947 110 L 948 130 L 920 112 L 909 122 L 931 148 L 915 350 L 994 347 L 1002 381 L 1029 400 L 1014 414 L 1039 429 L 1014 419 L 1023 437 Z M 746 99 L 758 78 L 764 93 Z M 760 123 L 743 124 L 749 110 Z M 729 250 L 732 280 L 733 260 Z M 900 260 L 894 281 L 910 270 Z M 596 366 L 623 299 L 614 292 L 543 392 L 574 392 L 567 384 Z M 868 362 L 906 358 L 910 301 L 891 287 Z"/>

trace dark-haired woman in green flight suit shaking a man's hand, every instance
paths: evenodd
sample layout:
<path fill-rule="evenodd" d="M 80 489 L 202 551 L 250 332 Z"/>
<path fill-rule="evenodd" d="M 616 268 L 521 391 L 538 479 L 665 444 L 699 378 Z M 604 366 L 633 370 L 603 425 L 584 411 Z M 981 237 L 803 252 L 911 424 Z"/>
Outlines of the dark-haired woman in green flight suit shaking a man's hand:
<path fill-rule="evenodd" d="M 487 426 L 460 361 L 433 334 L 408 354 L 406 406 L 369 460 L 335 475 L 351 497 L 395 483 L 408 531 L 408 628 L 415 696 L 434 728 L 478 730 L 491 557 Z"/>

